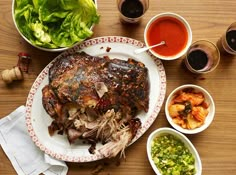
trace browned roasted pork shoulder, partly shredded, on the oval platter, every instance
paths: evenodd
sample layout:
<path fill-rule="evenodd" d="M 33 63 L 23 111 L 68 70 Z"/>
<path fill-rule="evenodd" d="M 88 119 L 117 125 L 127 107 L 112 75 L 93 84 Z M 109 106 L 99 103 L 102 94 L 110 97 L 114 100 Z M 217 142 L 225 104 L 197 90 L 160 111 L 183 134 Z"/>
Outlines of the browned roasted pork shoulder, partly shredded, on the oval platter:
<path fill-rule="evenodd" d="M 113 157 L 123 153 L 141 126 L 137 113 L 148 111 L 148 70 L 131 58 L 74 53 L 53 63 L 42 95 L 43 106 L 53 118 L 51 135 L 65 133 L 71 143 L 79 138 L 93 146 L 101 141 L 104 147 L 97 151 Z M 114 149 L 107 150 L 111 144 Z"/>

